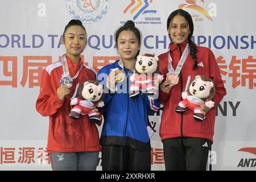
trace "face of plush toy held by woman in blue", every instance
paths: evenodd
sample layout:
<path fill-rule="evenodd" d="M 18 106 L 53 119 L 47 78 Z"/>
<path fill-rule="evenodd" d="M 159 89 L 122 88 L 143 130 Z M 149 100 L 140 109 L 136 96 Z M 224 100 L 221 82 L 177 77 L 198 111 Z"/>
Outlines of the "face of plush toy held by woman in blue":
<path fill-rule="evenodd" d="M 158 58 L 148 57 L 143 55 L 137 56 L 137 61 L 135 64 L 135 69 L 139 73 L 155 73 L 158 68 Z"/>

